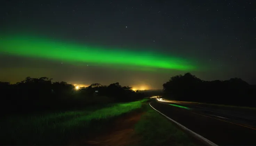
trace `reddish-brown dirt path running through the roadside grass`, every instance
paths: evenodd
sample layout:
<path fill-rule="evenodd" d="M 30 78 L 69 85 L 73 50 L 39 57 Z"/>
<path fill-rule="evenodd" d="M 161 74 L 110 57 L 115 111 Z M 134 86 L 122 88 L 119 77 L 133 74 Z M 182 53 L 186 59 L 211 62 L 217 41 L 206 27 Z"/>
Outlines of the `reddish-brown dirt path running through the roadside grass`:
<path fill-rule="evenodd" d="M 104 132 L 90 140 L 81 141 L 81 145 L 94 146 L 125 146 L 136 145 L 138 138 L 134 135 L 134 126 L 141 118 L 142 112 L 133 112 L 122 116 L 111 124 L 109 131 Z"/>

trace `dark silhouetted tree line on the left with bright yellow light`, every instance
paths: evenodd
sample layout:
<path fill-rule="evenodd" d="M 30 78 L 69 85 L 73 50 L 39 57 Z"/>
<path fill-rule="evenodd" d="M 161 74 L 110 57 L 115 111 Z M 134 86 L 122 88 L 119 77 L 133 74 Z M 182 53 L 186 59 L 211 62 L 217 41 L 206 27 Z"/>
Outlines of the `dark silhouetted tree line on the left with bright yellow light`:
<path fill-rule="evenodd" d="M 136 101 L 145 97 L 144 93 L 119 83 L 108 86 L 95 83 L 77 89 L 73 84 L 52 80 L 47 77 L 26 77 L 16 84 L 0 82 L 1 114 L 69 110 L 94 104 Z"/>

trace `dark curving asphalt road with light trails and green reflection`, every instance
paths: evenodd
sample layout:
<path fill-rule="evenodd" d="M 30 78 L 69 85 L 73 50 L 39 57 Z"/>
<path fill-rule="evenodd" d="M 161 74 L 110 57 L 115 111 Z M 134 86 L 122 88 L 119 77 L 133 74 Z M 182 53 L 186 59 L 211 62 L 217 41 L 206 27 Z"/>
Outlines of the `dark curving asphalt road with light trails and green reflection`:
<path fill-rule="evenodd" d="M 256 145 L 256 110 L 222 109 L 162 98 L 150 104 L 216 145 Z"/>

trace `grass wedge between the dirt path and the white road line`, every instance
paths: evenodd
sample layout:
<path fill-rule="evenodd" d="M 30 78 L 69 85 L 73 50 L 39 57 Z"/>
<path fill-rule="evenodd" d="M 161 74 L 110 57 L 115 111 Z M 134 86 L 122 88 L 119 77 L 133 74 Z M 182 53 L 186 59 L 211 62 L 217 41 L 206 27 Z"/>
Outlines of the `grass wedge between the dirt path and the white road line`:
<path fill-rule="evenodd" d="M 195 145 L 187 134 L 149 105 L 135 125 L 135 135 L 141 139 L 139 145 Z"/>

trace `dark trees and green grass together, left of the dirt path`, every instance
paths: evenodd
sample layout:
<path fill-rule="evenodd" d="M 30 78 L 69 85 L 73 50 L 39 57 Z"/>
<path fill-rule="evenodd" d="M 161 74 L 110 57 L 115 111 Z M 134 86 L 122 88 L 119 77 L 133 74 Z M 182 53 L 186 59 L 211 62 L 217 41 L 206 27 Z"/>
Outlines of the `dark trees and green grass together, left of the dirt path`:
<path fill-rule="evenodd" d="M 104 132 L 115 118 L 141 110 L 145 97 L 156 93 L 119 83 L 77 87 L 27 77 L 16 84 L 0 82 L 0 94 L 1 145 L 72 145 Z"/>

